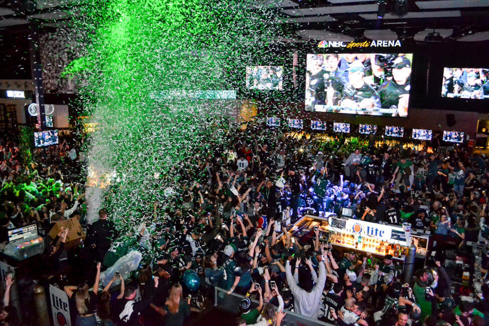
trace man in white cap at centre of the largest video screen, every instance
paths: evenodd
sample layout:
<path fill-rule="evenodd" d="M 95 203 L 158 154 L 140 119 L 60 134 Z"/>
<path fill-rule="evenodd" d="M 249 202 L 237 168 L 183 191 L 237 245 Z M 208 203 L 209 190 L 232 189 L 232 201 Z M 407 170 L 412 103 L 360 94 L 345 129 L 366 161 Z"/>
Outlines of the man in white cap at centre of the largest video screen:
<path fill-rule="evenodd" d="M 343 89 L 342 109 L 356 111 L 358 114 L 380 109 L 379 94 L 372 86 L 365 83 L 364 75 L 365 67 L 363 63 L 358 60 L 352 62 L 348 68 L 348 79 L 350 82 Z"/>

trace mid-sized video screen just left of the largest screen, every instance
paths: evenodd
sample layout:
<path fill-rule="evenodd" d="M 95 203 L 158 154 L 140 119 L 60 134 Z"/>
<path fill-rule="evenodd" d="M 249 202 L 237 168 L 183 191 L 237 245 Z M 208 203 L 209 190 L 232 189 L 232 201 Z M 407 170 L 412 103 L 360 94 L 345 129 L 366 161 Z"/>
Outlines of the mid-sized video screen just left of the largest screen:
<path fill-rule="evenodd" d="M 246 67 L 246 88 L 258 90 L 282 90 L 282 66 Z"/>

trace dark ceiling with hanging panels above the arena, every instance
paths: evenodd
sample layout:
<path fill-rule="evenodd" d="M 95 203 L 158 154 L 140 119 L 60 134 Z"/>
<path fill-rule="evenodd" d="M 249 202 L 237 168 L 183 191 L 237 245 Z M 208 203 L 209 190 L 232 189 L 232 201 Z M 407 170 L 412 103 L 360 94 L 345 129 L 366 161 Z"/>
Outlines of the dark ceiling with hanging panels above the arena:
<path fill-rule="evenodd" d="M 378 19 L 379 3 L 386 14 Z M 0 34 L 28 31 L 31 22 L 54 29 L 71 17 L 79 0 L 0 0 Z M 290 40 L 351 40 L 397 37 L 424 40 L 425 30 L 439 30 L 446 38 L 460 41 L 489 40 L 489 0 L 265 0 L 281 19 Z M 407 14 L 396 16 L 404 6 Z M 3 31 L 3 32 L 2 32 Z M 304 32 L 305 31 L 305 32 Z M 311 32 L 312 31 L 312 32 Z M 378 32 L 375 32 L 378 31 Z M 396 35 L 392 34 L 394 32 Z"/>

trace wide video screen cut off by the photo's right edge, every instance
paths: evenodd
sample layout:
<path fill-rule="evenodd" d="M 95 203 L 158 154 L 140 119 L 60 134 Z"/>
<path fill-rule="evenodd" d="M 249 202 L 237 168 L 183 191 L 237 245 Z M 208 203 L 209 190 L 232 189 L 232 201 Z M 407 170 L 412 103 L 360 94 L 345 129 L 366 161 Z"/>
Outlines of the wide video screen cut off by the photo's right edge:
<path fill-rule="evenodd" d="M 489 68 L 444 68 L 441 97 L 489 98 Z"/>

